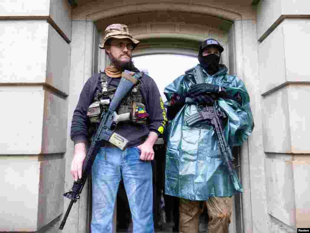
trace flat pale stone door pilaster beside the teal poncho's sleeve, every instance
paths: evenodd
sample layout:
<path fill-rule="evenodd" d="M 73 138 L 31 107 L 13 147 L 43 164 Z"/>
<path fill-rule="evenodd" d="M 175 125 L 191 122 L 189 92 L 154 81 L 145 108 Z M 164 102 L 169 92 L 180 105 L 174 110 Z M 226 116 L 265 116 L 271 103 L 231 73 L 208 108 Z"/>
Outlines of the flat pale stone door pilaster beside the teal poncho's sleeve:
<path fill-rule="evenodd" d="M 255 128 L 241 147 L 242 232 L 267 231 L 267 205 L 265 194 L 264 153 L 259 96 L 258 44 L 255 20 L 234 23 L 236 74 L 250 95 Z"/>

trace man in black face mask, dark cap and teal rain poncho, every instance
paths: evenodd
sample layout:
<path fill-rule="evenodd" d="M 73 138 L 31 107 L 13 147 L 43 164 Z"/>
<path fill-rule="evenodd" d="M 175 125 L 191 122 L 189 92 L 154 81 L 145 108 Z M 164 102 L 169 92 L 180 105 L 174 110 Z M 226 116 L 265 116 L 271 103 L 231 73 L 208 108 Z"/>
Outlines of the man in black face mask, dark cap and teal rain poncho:
<path fill-rule="evenodd" d="M 249 95 L 244 83 L 227 74 L 225 65 L 219 65 L 223 51 L 216 40 L 207 39 L 199 48 L 200 64 L 165 88 L 167 117 L 171 120 L 165 193 L 180 198 L 181 233 L 198 233 L 199 214 L 204 206 L 209 215 L 208 232 L 228 233 L 232 195 L 242 191 L 241 185 L 236 190 L 223 163 L 210 120 L 194 124 L 187 121 L 197 114 L 198 107 L 217 106 L 226 115 L 222 127 L 230 147 L 240 146 L 252 132 Z"/>

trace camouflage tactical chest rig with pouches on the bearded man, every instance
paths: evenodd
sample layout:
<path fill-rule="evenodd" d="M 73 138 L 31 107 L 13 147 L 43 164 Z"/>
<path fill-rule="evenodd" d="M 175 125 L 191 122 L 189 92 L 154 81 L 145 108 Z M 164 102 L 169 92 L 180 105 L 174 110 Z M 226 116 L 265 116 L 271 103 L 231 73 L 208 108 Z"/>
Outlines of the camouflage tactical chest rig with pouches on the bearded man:
<path fill-rule="evenodd" d="M 102 92 L 95 93 L 95 102 L 93 102 L 87 110 L 87 116 L 91 123 L 100 122 L 100 113 L 103 109 L 108 108 L 116 91 L 116 88 L 108 87 L 108 76 L 105 73 L 100 73 L 100 83 Z M 117 114 L 126 116 L 126 118 L 122 118 L 121 121 L 129 121 L 134 124 L 146 124 L 149 114 L 146 112 L 145 105 L 143 104 L 144 100 L 141 95 L 140 86 L 141 83 L 139 82 L 121 101 L 117 109 Z"/>

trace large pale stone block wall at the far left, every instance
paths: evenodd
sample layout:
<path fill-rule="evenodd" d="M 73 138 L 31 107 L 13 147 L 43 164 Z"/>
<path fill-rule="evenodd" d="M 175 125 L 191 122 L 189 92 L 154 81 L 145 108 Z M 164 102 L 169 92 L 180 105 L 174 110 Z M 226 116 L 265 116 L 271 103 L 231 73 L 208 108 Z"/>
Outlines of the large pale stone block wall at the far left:
<path fill-rule="evenodd" d="M 0 231 L 49 231 L 63 212 L 69 95 L 68 1 L 4 1 Z"/>

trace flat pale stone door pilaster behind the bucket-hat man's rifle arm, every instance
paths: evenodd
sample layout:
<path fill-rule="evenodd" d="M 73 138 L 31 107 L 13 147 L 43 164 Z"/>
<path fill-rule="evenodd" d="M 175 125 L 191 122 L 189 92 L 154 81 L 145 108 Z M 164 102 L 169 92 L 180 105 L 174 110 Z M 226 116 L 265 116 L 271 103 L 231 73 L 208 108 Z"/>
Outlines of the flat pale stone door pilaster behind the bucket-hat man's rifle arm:
<path fill-rule="evenodd" d="M 70 174 L 71 161 L 73 159 L 73 141 L 70 139 L 70 127 L 73 116 L 73 111 L 78 103 L 79 95 L 88 78 L 91 77 L 94 70 L 94 62 L 98 59 L 93 59 L 94 54 L 98 54 L 99 37 L 96 32 L 95 25 L 90 20 L 73 20 L 72 21 L 72 42 L 71 42 L 71 70 L 70 70 L 70 95 L 68 97 L 68 121 L 67 121 L 67 152 L 65 158 L 67 160 L 65 168 L 65 190 L 70 190 L 73 185 L 73 177 Z M 97 52 L 96 52 L 97 51 Z M 98 64 L 96 64 L 98 66 Z M 97 71 L 96 71 L 97 72 Z M 90 216 L 90 196 L 88 182 L 83 188 L 81 199 L 73 205 L 67 223 L 65 232 L 85 233 L 89 232 Z M 64 199 L 64 211 L 68 208 L 69 199 Z"/>

